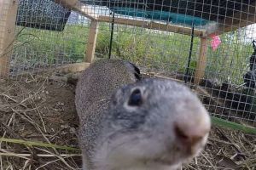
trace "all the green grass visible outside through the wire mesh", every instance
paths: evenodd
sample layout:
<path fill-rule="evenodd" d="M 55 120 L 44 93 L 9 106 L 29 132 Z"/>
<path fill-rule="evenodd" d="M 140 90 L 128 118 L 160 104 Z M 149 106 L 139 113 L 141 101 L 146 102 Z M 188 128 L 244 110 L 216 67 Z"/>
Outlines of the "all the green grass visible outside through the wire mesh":
<path fill-rule="evenodd" d="M 26 28 L 21 31 L 15 43 L 17 63 L 38 62 L 44 59 L 55 64 L 56 59 L 80 62 L 84 59 L 89 26 L 66 26 L 64 31 L 42 31 Z M 20 28 L 19 28 L 20 29 Z M 184 73 L 188 58 L 190 36 L 177 33 L 160 34 L 143 28 L 119 26 L 113 34 L 113 56 L 129 59 L 138 65 L 169 72 Z M 251 43 L 239 42 L 236 32 L 221 36 L 222 44 L 216 51 L 207 50 L 206 77 L 218 81 L 243 82 L 247 70 L 247 59 L 253 53 Z M 96 42 L 96 55 L 108 57 L 110 30 L 108 24 L 101 24 Z M 200 48 L 200 39 L 194 38 L 190 64 L 193 74 Z"/>

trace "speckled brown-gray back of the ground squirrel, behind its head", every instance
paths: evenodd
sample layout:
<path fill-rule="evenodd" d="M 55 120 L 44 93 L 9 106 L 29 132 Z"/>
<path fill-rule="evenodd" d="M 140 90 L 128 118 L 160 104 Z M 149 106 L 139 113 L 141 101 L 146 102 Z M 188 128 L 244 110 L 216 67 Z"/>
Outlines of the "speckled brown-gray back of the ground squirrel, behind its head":
<path fill-rule="evenodd" d="M 80 120 L 79 140 L 89 155 L 98 134 L 98 123 L 108 108 L 111 95 L 120 86 L 137 82 L 139 70 L 136 65 L 119 59 L 99 59 L 79 77 L 76 88 L 76 108 Z M 90 164 L 90 162 L 88 162 Z"/>

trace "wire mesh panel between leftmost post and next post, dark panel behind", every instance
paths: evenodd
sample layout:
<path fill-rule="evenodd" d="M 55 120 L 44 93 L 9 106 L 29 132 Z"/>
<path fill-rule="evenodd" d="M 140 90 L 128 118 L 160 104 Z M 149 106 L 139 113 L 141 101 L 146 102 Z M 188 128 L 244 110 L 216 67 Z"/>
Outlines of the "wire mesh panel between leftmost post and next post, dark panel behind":
<path fill-rule="evenodd" d="M 49 69 L 84 58 L 89 20 L 54 1 L 20 1 L 11 73 Z"/>

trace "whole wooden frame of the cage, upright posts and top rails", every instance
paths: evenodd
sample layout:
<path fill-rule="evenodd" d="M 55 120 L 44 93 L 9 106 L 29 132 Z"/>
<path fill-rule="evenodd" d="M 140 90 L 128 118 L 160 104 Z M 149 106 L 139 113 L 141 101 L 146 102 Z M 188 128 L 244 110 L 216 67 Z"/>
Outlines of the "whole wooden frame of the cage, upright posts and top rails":
<path fill-rule="evenodd" d="M 96 47 L 96 37 L 98 32 L 99 22 L 112 23 L 111 16 L 97 15 L 93 9 L 88 8 L 88 5 L 80 3 L 79 0 L 55 0 L 56 3 L 60 3 L 62 6 L 73 9 L 79 12 L 85 17 L 91 20 L 90 23 L 90 33 L 88 38 L 88 43 L 86 46 L 86 59 L 88 63 L 93 62 Z M 2 4 L 1 4 L 2 3 Z M 17 13 L 17 0 L 0 0 L 0 7 L 3 8 L 3 4 L 8 4 L 7 8 L 10 8 L 7 14 L 3 10 L 0 10 L 0 15 L 3 17 L 0 20 L 0 54 L 3 55 L 0 58 L 0 76 L 7 76 L 9 74 L 9 59 L 11 55 L 12 42 L 14 41 L 14 31 L 15 31 L 15 18 Z M 234 31 L 239 27 L 248 26 L 250 24 L 256 23 L 255 15 L 255 5 L 251 5 L 246 11 L 237 12 L 234 14 L 232 20 L 226 18 L 225 20 L 220 20 L 218 28 L 216 31 L 207 32 L 205 30 L 194 31 L 195 37 L 201 37 L 201 50 L 197 61 L 197 67 L 195 70 L 195 84 L 201 82 L 202 77 L 204 77 L 204 72 L 207 65 L 207 37 L 211 34 L 220 34 L 226 31 Z M 235 18 L 235 20 L 233 20 Z M 146 20 L 133 20 L 128 18 L 116 17 L 114 20 L 115 24 L 127 25 L 127 26 L 137 26 L 153 30 L 169 31 L 175 33 L 181 33 L 185 35 L 191 35 L 191 28 L 176 26 L 170 24 L 162 24 L 154 21 Z M 228 25 L 228 26 L 227 26 Z M 2 27 L 1 27 L 2 26 Z M 5 65 L 5 66 L 3 66 Z"/>

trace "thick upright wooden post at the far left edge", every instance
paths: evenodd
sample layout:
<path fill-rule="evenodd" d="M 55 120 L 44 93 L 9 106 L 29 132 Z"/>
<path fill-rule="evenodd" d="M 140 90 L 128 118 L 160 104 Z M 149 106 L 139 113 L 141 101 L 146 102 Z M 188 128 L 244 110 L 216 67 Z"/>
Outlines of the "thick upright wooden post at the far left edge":
<path fill-rule="evenodd" d="M 0 77 L 9 76 L 18 0 L 0 0 Z"/>

